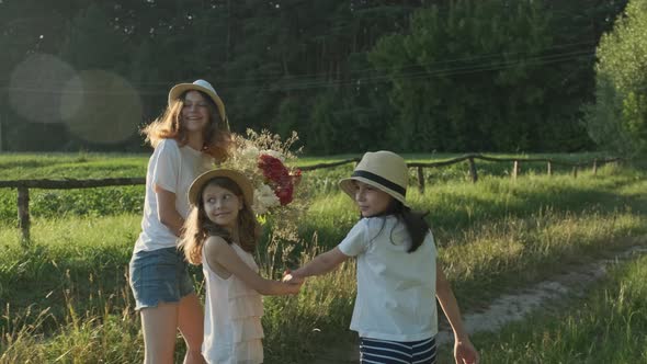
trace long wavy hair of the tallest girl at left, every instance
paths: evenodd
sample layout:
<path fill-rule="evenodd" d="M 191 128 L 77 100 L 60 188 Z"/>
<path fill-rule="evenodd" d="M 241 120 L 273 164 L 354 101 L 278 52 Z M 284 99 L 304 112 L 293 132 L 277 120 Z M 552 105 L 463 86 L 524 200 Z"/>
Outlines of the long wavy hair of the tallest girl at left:
<path fill-rule="evenodd" d="M 212 156 L 216 161 L 224 161 L 229 157 L 232 146 L 231 133 L 228 121 L 223 121 L 218 113 L 218 106 L 206 93 L 198 90 L 188 90 L 172 101 L 164 112 L 152 123 L 143 127 L 140 133 L 146 136 L 146 141 L 156 148 L 161 139 L 175 139 L 180 146 L 189 143 L 189 135 L 182 124 L 182 107 L 189 91 L 197 91 L 206 100 L 209 110 L 209 124 L 203 132 L 204 144 L 202 151 Z"/>

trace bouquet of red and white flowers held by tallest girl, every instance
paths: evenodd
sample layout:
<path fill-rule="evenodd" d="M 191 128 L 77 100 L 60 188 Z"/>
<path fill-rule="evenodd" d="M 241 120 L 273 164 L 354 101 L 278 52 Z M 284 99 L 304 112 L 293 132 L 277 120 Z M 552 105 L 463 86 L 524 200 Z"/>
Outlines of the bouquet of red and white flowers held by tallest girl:
<path fill-rule="evenodd" d="M 252 209 L 261 219 L 264 215 L 286 209 L 295 198 L 302 173 L 287 167 L 286 162 L 296 159 L 290 151 L 296 140 L 296 133 L 281 141 L 277 135 L 268 130 L 258 134 L 248 129 L 247 137 L 234 136 L 234 152 L 223 167 L 239 170 L 252 181 Z"/>

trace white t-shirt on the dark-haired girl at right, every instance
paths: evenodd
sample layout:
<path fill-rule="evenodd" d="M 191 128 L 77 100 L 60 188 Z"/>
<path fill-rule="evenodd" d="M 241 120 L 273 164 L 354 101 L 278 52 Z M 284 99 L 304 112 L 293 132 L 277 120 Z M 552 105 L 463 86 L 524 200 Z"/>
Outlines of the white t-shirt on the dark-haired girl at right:
<path fill-rule="evenodd" d="M 361 219 L 339 243 L 357 257 L 357 297 L 351 330 L 362 338 L 418 341 L 438 333 L 436 250 L 431 231 L 412 253 L 395 216 Z"/>

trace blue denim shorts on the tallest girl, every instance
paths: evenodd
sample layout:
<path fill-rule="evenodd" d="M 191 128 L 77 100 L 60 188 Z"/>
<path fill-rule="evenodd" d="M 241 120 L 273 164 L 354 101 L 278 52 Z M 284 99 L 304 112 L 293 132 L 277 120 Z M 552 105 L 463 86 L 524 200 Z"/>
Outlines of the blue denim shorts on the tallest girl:
<path fill-rule="evenodd" d="M 138 251 L 130 259 L 130 288 L 135 309 L 178 303 L 193 292 L 184 254 L 175 248 Z"/>

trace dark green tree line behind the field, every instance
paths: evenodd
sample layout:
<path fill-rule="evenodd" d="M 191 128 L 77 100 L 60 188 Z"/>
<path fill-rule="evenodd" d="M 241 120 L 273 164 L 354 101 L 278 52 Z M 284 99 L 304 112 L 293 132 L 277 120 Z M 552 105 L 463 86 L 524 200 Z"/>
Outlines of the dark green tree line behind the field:
<path fill-rule="evenodd" d="M 169 88 L 204 78 L 235 132 L 296 130 L 308 153 L 589 150 L 626 3 L 4 0 L 0 145 L 140 151 Z"/>

